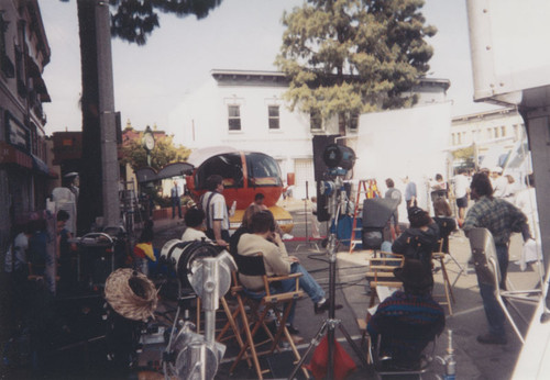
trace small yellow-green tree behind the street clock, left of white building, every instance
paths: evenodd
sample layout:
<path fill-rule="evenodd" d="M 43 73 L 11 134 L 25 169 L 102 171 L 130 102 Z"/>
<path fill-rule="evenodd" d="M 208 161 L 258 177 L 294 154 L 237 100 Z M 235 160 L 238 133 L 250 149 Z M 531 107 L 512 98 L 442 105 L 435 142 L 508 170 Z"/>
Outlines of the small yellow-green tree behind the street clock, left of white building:
<path fill-rule="evenodd" d="M 151 152 L 151 167 L 160 170 L 170 163 L 185 161 L 190 149 L 174 145 L 172 136 L 156 137 L 155 147 Z M 135 138 L 122 147 L 121 164 L 128 164 L 133 170 L 147 166 L 147 152 L 141 138 Z"/>

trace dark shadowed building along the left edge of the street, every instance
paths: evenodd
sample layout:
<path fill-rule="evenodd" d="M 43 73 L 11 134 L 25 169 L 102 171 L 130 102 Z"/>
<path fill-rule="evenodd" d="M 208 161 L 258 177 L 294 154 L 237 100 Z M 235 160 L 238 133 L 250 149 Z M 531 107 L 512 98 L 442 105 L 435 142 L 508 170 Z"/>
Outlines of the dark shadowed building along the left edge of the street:
<path fill-rule="evenodd" d="M 0 246 L 10 230 L 45 208 L 48 169 L 42 78 L 50 46 L 37 0 L 0 1 Z"/>

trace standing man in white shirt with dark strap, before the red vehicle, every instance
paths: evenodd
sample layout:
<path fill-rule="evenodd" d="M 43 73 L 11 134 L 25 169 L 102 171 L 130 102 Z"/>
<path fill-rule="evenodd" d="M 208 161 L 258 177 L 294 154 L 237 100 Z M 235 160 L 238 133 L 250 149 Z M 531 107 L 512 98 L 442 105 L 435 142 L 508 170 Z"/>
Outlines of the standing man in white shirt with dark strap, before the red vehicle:
<path fill-rule="evenodd" d="M 223 197 L 223 178 L 211 175 L 206 181 L 207 192 L 202 195 L 200 204 L 206 214 L 206 234 L 217 245 L 227 247 L 229 245 L 229 213 Z"/>

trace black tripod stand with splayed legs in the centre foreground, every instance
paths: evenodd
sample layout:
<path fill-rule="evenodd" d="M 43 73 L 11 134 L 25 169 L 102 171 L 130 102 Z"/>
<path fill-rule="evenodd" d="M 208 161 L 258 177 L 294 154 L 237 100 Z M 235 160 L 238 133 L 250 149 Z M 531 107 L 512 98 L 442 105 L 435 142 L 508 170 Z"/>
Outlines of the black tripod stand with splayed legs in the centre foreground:
<path fill-rule="evenodd" d="M 338 197 L 340 198 L 340 197 Z M 333 221 L 334 221 L 334 230 L 338 231 L 338 214 L 340 212 L 340 201 L 337 200 L 337 193 L 334 192 L 331 197 L 331 204 L 329 206 L 331 209 L 336 209 L 336 212 L 332 213 L 333 215 Z M 365 355 L 361 351 L 361 349 L 358 347 L 355 342 L 353 342 L 351 335 L 348 333 L 345 329 L 344 325 L 342 324 L 341 320 L 336 318 L 336 277 L 337 277 L 337 247 L 338 247 L 338 241 L 336 236 L 336 232 L 331 233 L 329 236 L 329 243 L 328 243 L 328 254 L 329 254 L 329 317 L 324 320 L 324 322 L 321 324 L 319 327 L 318 332 L 311 339 L 311 343 L 309 344 L 309 347 L 307 348 L 306 353 L 301 356 L 301 359 L 298 361 L 296 367 L 294 368 L 293 372 L 288 377 L 289 379 L 294 379 L 296 372 L 301 368 L 304 365 L 304 361 L 306 358 L 309 356 L 311 350 L 317 347 L 322 338 L 322 336 L 327 333 L 327 338 L 328 338 L 328 367 L 327 367 L 327 378 L 328 379 L 333 379 L 334 378 L 334 331 L 336 328 L 340 328 L 341 333 L 344 335 L 345 339 L 350 344 L 350 346 L 353 348 L 358 357 L 361 359 L 363 365 L 366 367 L 369 364 L 366 362 Z"/>

